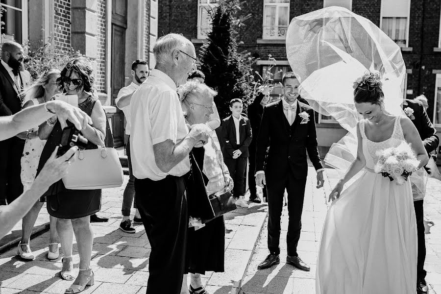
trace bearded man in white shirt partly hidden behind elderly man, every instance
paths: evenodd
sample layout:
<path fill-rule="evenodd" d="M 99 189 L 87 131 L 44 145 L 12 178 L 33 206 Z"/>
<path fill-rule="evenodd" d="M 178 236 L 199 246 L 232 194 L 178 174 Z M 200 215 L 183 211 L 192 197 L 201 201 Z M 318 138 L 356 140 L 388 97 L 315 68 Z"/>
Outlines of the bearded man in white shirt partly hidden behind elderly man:
<path fill-rule="evenodd" d="M 121 210 L 123 214 L 123 220 L 120 224 L 120 229 L 123 232 L 134 234 L 136 229 L 133 227 L 133 223 L 130 220 L 130 208 L 132 207 L 133 199 L 135 198 L 135 177 L 132 172 L 132 163 L 130 156 L 130 101 L 133 93 L 139 88 L 139 86 L 147 79 L 148 65 L 147 61 L 137 59 L 132 63 L 132 82 L 130 85 L 121 88 L 118 92 L 118 97 L 115 99 L 116 106 L 124 113 L 127 124 L 125 125 L 125 134 L 129 136 L 129 141 L 125 146 L 127 154 L 127 162 L 129 167 L 129 180 L 127 186 L 125 186 L 123 194 L 123 208 Z M 133 203 L 133 207 L 136 208 L 136 202 Z M 138 209 L 136 209 L 134 223 L 142 223 L 141 216 Z"/>

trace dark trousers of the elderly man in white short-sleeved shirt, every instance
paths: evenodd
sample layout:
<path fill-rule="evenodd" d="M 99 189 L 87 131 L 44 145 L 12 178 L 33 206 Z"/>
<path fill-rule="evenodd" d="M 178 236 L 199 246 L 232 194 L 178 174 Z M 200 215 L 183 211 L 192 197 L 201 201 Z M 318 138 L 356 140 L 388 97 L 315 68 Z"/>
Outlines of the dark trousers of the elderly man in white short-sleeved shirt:
<path fill-rule="evenodd" d="M 184 177 L 159 181 L 135 178 L 136 204 L 151 245 L 147 294 L 181 291 L 187 250 Z"/>

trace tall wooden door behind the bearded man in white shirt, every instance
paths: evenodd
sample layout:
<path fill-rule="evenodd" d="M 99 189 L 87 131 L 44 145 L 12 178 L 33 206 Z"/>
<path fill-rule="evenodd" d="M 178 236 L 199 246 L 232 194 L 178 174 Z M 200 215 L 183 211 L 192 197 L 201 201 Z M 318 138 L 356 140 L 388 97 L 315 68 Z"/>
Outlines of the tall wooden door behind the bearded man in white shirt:
<path fill-rule="evenodd" d="M 115 106 L 118 92 L 125 86 L 125 29 L 127 28 L 127 0 L 113 0 L 112 2 L 112 69 L 111 105 Z M 124 144 L 124 114 L 117 108 L 112 117 L 113 138 L 115 147 Z"/>

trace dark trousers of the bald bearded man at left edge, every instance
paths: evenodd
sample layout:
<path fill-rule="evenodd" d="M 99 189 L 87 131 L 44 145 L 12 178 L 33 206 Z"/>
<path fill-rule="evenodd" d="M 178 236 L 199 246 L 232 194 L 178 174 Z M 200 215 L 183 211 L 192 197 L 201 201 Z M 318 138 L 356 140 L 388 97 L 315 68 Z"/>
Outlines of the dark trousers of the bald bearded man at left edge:
<path fill-rule="evenodd" d="M 0 141 L 0 205 L 11 203 L 23 193 L 20 173 L 25 140 L 13 137 Z"/>

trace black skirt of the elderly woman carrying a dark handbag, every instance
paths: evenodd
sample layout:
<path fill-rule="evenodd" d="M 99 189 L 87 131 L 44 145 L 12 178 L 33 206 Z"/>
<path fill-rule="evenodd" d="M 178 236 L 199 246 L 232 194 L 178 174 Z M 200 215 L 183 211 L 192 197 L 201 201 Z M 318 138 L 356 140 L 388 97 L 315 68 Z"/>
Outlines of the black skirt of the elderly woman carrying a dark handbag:
<path fill-rule="evenodd" d="M 203 170 L 204 148 L 193 148 L 196 162 Z M 195 231 L 189 228 L 186 272 L 205 274 L 205 271 L 224 271 L 225 224 L 223 216 L 215 218 Z"/>

